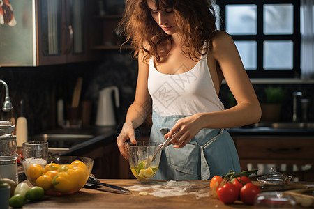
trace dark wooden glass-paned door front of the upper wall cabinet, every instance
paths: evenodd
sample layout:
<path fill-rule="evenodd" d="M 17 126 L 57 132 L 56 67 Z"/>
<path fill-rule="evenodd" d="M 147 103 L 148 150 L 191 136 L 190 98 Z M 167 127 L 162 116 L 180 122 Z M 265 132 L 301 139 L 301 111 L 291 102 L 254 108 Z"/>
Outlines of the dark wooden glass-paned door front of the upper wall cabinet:
<path fill-rule="evenodd" d="M 87 61 L 86 5 L 86 0 L 36 1 L 38 65 Z"/>

